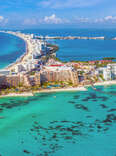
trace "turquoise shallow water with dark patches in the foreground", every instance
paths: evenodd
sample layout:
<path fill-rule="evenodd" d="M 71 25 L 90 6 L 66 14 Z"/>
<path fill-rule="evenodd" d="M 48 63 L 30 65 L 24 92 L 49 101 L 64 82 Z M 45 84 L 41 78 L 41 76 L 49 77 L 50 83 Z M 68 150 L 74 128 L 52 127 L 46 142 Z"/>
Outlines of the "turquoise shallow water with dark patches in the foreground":
<path fill-rule="evenodd" d="M 0 99 L 2 156 L 115 156 L 116 86 Z"/>

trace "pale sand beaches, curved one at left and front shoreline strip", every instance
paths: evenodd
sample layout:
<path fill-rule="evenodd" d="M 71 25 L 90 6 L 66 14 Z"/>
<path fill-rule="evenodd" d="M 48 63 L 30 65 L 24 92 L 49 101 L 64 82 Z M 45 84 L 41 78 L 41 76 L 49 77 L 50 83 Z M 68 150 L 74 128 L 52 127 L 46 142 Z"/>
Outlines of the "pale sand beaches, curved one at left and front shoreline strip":
<path fill-rule="evenodd" d="M 14 63 L 8 65 L 5 69 L 12 69 L 13 66 L 17 65 L 19 62 L 23 63 L 26 59 L 28 59 L 29 54 L 32 53 L 32 45 L 31 42 L 25 37 L 24 34 L 16 34 L 15 32 L 3 32 L 14 35 L 19 37 L 25 42 L 25 52 L 21 55 Z M 93 84 L 94 86 L 106 86 L 106 85 L 116 85 L 116 80 L 112 81 L 103 81 L 103 82 L 96 82 Z M 67 87 L 67 88 L 51 88 L 51 89 L 41 89 L 38 91 L 30 91 L 29 92 L 22 92 L 22 93 L 10 93 L 6 95 L 0 95 L 0 97 L 23 97 L 23 96 L 34 96 L 36 93 L 49 93 L 49 92 L 67 92 L 67 91 L 87 91 L 86 87 L 91 87 L 92 85 L 83 85 L 78 87 Z"/>

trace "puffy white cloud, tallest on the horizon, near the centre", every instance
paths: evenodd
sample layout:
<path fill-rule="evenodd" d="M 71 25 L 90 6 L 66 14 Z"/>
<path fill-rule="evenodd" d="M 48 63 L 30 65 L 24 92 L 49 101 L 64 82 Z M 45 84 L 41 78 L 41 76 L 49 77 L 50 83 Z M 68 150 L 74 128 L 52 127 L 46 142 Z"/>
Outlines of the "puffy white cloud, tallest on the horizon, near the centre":
<path fill-rule="evenodd" d="M 45 16 L 43 22 L 48 24 L 61 24 L 63 21 L 55 14 L 52 14 L 51 16 Z"/>

